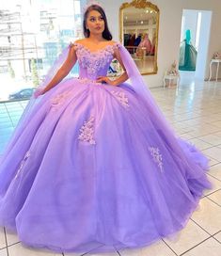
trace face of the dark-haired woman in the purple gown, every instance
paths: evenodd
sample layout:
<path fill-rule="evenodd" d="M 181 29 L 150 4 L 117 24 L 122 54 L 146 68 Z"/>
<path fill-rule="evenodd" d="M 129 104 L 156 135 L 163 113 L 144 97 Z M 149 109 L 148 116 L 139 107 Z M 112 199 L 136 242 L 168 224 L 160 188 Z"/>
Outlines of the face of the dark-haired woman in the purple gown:
<path fill-rule="evenodd" d="M 87 15 L 86 25 L 91 34 L 102 34 L 105 26 L 102 14 L 91 10 Z"/>

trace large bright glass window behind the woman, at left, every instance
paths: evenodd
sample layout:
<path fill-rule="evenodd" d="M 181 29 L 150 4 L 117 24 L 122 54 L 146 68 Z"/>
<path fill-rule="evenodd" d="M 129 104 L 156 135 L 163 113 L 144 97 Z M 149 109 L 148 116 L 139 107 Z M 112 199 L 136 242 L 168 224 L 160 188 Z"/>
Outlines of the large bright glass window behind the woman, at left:
<path fill-rule="evenodd" d="M 79 0 L 65 5 L 61 0 L 14 0 L 0 7 L 0 101 L 29 98 L 62 48 L 82 38 L 84 5 Z M 75 65 L 70 75 L 77 72 Z"/>

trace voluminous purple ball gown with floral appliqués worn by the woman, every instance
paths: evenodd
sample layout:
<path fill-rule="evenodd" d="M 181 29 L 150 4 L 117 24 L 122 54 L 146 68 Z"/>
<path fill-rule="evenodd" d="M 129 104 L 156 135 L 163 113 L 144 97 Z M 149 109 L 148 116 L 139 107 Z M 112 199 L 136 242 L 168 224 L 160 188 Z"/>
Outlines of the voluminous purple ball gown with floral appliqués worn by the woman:
<path fill-rule="evenodd" d="M 69 47 L 79 78 L 30 101 L 2 159 L 0 225 L 31 247 L 83 252 L 182 230 L 211 186 L 207 158 L 175 136 L 123 46 Z M 96 83 L 114 51 L 131 84 Z"/>

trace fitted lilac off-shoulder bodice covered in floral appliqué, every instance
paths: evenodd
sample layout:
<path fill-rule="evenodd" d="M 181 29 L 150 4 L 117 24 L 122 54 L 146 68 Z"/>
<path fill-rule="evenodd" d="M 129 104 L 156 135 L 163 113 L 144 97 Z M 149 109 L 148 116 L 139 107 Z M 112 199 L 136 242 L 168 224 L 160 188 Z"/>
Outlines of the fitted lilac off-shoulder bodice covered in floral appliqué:
<path fill-rule="evenodd" d="M 112 59 L 114 51 L 119 43 L 106 45 L 103 49 L 91 52 L 87 46 L 74 42 L 73 43 L 79 63 L 79 77 L 96 80 L 98 76 L 106 75 Z"/>

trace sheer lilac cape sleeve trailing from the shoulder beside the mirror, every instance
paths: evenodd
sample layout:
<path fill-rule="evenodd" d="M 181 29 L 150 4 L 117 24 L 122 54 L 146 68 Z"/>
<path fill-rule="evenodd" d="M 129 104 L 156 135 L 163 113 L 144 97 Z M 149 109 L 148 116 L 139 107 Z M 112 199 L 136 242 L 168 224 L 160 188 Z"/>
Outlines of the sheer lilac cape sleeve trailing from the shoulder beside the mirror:
<path fill-rule="evenodd" d="M 158 135 L 165 141 L 165 147 L 174 149 L 173 152 L 176 152 L 176 157 L 179 156 L 181 161 L 186 163 L 187 167 L 188 163 L 191 162 L 195 168 L 198 168 L 199 172 L 196 173 L 202 173 L 205 169 L 208 169 L 208 159 L 201 156 L 200 161 L 197 161 L 197 148 L 176 136 L 172 126 L 166 120 L 163 112 L 152 97 L 150 89 L 146 85 L 143 76 L 138 71 L 130 53 L 121 44 L 118 43 L 117 46 L 121 60 L 130 79 L 130 86 L 134 89 L 136 95 L 138 95 L 139 101 L 144 103 L 143 105 L 145 106 L 147 115 L 150 115 L 155 129 L 158 130 Z M 173 152 L 171 152 L 171 154 Z M 192 174 L 194 174 L 194 172 Z"/>

